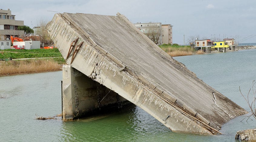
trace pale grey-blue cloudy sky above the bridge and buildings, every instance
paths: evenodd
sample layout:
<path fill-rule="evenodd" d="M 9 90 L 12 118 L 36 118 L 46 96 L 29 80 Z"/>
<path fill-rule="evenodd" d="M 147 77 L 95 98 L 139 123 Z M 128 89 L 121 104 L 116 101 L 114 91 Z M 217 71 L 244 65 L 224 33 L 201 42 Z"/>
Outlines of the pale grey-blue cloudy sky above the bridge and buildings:
<path fill-rule="evenodd" d="M 33 28 L 40 20 L 50 21 L 59 13 L 125 15 L 131 23 L 156 22 L 173 25 L 173 43 L 200 39 L 234 38 L 239 43 L 256 43 L 255 0 L 22 0 L 1 2 L 16 20 Z M 184 40 L 185 37 L 185 40 Z"/>

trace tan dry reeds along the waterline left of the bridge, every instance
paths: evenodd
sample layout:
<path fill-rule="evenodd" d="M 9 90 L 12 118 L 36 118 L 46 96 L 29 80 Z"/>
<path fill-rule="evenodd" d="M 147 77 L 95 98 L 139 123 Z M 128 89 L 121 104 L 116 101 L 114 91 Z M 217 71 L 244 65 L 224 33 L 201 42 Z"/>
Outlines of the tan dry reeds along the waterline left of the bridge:
<path fill-rule="evenodd" d="M 61 70 L 53 60 L 11 60 L 0 62 L 0 76 Z"/>

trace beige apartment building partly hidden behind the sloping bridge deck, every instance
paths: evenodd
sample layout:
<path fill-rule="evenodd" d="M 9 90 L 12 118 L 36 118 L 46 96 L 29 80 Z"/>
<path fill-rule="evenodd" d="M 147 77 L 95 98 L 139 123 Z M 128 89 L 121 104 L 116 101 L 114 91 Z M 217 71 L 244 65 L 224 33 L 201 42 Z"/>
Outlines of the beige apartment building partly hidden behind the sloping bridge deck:
<path fill-rule="evenodd" d="M 134 24 L 141 32 L 148 36 L 157 45 L 172 43 L 172 25 L 162 23 L 135 23 Z M 155 37 L 155 38 L 154 38 Z"/>

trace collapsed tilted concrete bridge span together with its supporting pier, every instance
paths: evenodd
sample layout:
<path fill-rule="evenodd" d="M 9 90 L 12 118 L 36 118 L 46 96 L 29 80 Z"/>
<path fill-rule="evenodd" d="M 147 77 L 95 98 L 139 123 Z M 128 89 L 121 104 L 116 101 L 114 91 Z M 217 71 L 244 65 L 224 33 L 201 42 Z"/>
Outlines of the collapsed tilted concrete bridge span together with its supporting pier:
<path fill-rule="evenodd" d="M 63 119 L 126 100 L 175 132 L 220 134 L 247 113 L 174 60 L 121 15 L 55 14 L 46 27 L 63 66 Z"/>

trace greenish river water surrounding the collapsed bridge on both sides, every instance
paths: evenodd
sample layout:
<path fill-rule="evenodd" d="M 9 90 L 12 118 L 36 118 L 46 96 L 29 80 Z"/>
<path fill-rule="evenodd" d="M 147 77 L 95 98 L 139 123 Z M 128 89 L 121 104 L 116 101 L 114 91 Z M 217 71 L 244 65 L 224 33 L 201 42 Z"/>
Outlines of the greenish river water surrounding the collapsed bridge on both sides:
<path fill-rule="evenodd" d="M 246 110 L 244 94 L 256 79 L 256 50 L 174 57 L 208 85 Z M 255 128 L 256 120 L 243 116 L 223 125 L 222 135 L 202 136 L 173 133 L 141 108 L 131 105 L 117 112 L 62 122 L 60 117 L 37 120 L 38 116 L 61 113 L 62 71 L 0 77 L 0 142 L 36 141 L 235 141 L 236 131 Z"/>

